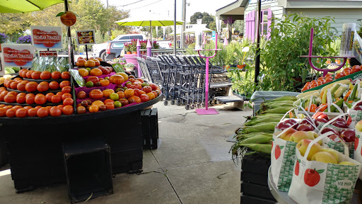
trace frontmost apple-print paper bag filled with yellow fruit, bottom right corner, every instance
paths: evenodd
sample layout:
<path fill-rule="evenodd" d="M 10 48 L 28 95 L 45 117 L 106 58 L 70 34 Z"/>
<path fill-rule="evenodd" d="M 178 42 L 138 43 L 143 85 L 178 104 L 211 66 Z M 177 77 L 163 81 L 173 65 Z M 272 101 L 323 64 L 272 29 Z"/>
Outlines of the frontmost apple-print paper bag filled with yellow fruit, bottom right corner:
<path fill-rule="evenodd" d="M 321 151 L 320 145 L 315 143 L 332 134 L 326 132 L 312 142 L 302 142 L 296 147 L 296 162 L 288 191 L 288 196 L 296 203 L 351 203 L 362 164 L 349 158 L 347 147 L 345 154 L 334 151 L 338 159 Z M 316 161 L 310 161 L 313 160 L 311 157 Z M 333 160 L 334 164 L 325 163 Z"/>

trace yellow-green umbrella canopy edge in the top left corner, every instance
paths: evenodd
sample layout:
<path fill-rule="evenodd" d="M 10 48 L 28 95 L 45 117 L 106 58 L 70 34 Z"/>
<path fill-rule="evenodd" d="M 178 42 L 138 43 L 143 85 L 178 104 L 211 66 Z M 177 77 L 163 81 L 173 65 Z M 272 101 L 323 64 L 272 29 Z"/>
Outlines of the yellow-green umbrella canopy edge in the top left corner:
<path fill-rule="evenodd" d="M 64 4 L 64 0 L 1 0 L 0 13 L 29 13 L 41 11 L 54 4 Z"/>

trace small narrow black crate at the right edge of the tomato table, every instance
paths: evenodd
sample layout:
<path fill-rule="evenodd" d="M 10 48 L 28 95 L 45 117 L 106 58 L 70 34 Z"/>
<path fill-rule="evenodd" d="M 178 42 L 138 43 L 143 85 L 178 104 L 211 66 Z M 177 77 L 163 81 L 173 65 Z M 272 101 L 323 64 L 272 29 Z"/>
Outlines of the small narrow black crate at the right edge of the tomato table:
<path fill-rule="evenodd" d="M 158 144 L 158 111 L 149 108 L 141 111 L 142 144 L 144 149 L 157 149 Z"/>

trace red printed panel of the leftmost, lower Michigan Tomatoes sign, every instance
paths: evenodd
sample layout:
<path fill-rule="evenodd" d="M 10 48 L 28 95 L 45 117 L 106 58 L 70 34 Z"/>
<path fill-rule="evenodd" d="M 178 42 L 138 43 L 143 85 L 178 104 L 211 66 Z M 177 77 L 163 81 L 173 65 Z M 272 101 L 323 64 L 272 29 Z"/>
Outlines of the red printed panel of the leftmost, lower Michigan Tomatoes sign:
<path fill-rule="evenodd" d="M 34 55 L 30 50 L 16 50 L 10 47 L 4 47 L 4 61 L 6 63 L 15 63 L 18 66 L 24 66 L 28 62 L 32 62 Z"/>

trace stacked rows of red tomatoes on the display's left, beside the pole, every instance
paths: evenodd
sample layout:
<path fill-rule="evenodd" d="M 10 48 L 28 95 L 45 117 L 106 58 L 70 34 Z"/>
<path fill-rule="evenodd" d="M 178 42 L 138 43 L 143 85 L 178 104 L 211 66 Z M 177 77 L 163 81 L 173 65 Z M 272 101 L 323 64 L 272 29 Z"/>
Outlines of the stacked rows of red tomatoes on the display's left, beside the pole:
<path fill-rule="evenodd" d="M 0 87 L 0 117 L 57 117 L 74 113 L 69 72 L 21 69 Z"/>

